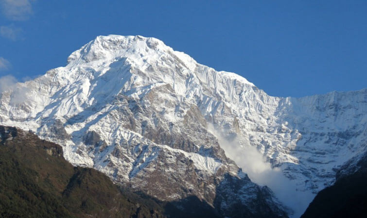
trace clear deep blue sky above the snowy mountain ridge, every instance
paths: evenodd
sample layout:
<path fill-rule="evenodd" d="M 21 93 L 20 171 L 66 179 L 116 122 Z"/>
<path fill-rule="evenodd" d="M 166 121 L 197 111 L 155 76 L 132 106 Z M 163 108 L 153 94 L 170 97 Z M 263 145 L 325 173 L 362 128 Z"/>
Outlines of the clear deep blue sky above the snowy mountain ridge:
<path fill-rule="evenodd" d="M 138 2 L 138 3 L 137 3 Z M 156 37 L 266 93 L 367 88 L 367 1 L 0 0 L 0 77 L 64 66 L 97 35 Z"/>

